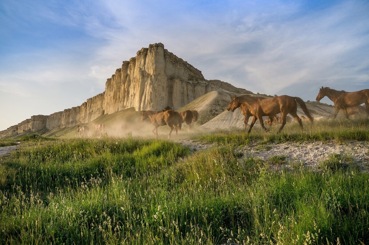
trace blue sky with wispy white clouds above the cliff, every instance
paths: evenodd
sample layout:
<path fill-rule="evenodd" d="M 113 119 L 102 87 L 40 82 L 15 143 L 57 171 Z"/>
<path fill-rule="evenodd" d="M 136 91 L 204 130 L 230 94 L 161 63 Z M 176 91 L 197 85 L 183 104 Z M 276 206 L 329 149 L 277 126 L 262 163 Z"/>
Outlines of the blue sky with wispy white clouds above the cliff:
<path fill-rule="evenodd" d="M 1 1 L 0 130 L 79 106 L 156 42 L 254 93 L 369 88 L 368 1 Z"/>

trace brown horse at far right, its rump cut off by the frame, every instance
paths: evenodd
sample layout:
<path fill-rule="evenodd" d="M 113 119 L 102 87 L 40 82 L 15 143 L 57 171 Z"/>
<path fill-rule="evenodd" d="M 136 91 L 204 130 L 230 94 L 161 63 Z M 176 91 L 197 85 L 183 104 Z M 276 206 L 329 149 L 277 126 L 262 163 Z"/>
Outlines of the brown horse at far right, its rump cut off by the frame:
<path fill-rule="evenodd" d="M 316 100 L 320 101 L 324 98 L 324 96 L 327 96 L 334 103 L 334 118 L 337 117 L 338 111 L 341 109 L 345 114 L 345 117 L 348 119 L 349 115 L 347 113 L 347 108 L 359 106 L 363 103 L 365 103 L 366 113 L 369 115 L 369 89 L 363 89 L 355 92 L 345 92 L 344 90 L 338 91 L 322 86 L 319 89 Z"/>

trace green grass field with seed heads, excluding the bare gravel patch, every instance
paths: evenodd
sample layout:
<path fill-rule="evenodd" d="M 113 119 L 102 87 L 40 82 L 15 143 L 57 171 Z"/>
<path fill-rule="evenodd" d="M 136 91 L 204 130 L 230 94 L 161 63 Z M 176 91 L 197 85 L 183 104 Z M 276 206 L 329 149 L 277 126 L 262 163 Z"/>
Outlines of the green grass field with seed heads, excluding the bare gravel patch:
<path fill-rule="evenodd" d="M 335 155 L 318 172 L 276 172 L 283 156 L 235 151 L 250 141 L 368 141 L 368 131 L 356 120 L 193 135 L 219 143 L 199 152 L 130 135 L 24 137 L 0 157 L 0 244 L 369 244 L 368 173 Z"/>

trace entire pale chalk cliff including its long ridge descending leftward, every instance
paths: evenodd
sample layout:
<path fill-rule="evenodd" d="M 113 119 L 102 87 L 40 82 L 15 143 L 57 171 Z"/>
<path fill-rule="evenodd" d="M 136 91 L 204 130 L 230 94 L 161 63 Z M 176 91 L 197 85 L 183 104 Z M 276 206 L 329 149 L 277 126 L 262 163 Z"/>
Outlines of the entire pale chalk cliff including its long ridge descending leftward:
<path fill-rule="evenodd" d="M 176 110 L 216 90 L 251 93 L 220 80 L 206 80 L 200 70 L 164 49 L 163 44 L 151 44 L 138 51 L 136 57 L 123 61 L 107 79 L 103 93 L 87 99 L 80 106 L 48 116 L 32 116 L 16 125 L 16 131 L 73 127 L 131 107 L 136 111 L 162 110 L 167 106 Z M 12 134 L 14 127 L 0 131 L 0 137 Z"/>

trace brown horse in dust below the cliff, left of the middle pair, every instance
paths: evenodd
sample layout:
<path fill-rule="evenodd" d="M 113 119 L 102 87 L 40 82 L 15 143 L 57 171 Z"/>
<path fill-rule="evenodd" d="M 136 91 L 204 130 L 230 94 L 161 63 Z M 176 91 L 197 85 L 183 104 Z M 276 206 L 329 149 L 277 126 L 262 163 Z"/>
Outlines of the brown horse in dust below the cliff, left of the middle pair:
<path fill-rule="evenodd" d="M 168 125 L 170 127 L 170 132 L 168 138 L 172 135 L 173 128 L 176 130 L 176 136 L 178 135 L 178 129 L 182 128 L 182 117 L 173 110 L 168 110 L 165 112 L 159 111 L 142 111 L 141 122 L 146 118 L 150 118 L 151 123 L 154 125 L 152 132 L 155 138 L 158 138 L 158 127 Z"/>

